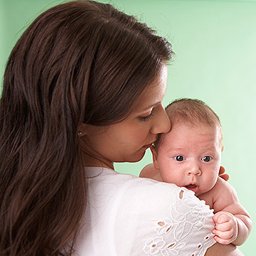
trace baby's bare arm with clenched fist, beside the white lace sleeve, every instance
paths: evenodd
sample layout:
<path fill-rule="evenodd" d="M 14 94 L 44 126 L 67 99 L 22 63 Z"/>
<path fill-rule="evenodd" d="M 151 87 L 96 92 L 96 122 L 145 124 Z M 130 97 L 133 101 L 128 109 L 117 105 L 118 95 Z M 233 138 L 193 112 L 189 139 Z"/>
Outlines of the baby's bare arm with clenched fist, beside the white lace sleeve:
<path fill-rule="evenodd" d="M 252 229 L 252 220 L 238 201 L 235 188 L 218 178 L 214 189 L 215 240 L 223 245 L 242 245 Z"/>

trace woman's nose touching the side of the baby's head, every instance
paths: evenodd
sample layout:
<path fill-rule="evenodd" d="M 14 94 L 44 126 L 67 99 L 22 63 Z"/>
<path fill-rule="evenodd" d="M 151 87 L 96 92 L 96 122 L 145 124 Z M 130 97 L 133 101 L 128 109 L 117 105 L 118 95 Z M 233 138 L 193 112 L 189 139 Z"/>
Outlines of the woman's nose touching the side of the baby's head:
<path fill-rule="evenodd" d="M 159 110 L 156 114 L 157 118 L 154 119 L 154 125 L 151 127 L 151 133 L 160 134 L 169 132 L 171 129 L 171 122 L 163 105 L 159 106 Z"/>

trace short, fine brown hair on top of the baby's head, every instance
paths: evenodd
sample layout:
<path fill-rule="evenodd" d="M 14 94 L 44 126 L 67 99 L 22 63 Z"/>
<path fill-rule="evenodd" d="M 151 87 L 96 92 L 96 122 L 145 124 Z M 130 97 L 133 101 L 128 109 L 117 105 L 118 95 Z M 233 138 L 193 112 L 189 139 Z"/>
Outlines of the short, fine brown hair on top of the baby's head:
<path fill-rule="evenodd" d="M 219 127 L 221 141 L 223 137 L 222 127 L 218 115 L 206 105 L 203 100 L 179 98 L 173 100 L 167 107 L 166 112 L 171 123 L 185 122 L 187 124 L 204 124 L 209 127 Z M 156 149 L 161 141 L 161 134 L 154 143 Z"/>

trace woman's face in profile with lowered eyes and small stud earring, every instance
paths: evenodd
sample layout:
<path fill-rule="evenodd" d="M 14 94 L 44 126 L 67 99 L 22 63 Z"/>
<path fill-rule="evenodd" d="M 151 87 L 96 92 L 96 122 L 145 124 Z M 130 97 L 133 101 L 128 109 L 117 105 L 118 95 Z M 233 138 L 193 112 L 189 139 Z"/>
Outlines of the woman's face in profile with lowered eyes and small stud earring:
<path fill-rule="evenodd" d="M 170 121 L 161 101 L 167 83 L 167 67 L 146 87 L 124 120 L 106 125 L 80 125 L 80 143 L 85 164 L 113 168 L 113 162 L 135 162 L 142 159 L 146 149 L 159 133 L 169 132 Z"/>

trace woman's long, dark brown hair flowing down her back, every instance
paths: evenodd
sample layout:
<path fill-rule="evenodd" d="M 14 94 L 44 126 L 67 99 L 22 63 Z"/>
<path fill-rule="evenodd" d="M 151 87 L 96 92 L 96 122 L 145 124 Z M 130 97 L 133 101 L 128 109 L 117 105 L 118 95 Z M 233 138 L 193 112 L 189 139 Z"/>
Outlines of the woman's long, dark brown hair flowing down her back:
<path fill-rule="evenodd" d="M 126 117 L 171 53 L 95 1 L 55 6 L 27 28 L 0 103 L 1 256 L 71 255 L 86 204 L 78 125 Z"/>

